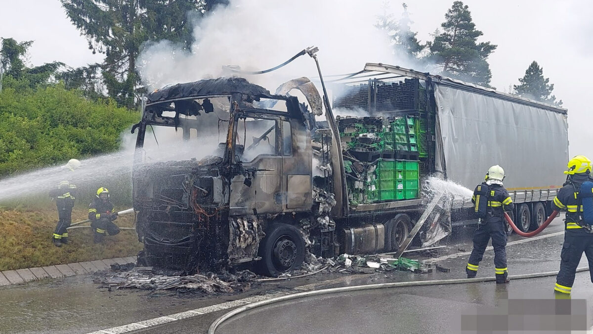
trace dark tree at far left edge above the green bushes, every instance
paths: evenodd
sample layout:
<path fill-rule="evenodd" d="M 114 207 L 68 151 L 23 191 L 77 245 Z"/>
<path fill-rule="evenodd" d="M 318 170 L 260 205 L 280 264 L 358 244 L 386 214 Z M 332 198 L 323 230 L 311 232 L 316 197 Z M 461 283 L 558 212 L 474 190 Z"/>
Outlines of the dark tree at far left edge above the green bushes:
<path fill-rule="evenodd" d="M 0 66 L 4 68 L 7 76 L 23 79 L 21 83 L 24 85 L 46 84 L 64 64 L 54 61 L 37 67 L 27 67 L 25 56 L 31 45 L 33 45 L 32 40 L 17 42 L 12 38 L 2 39 Z"/>

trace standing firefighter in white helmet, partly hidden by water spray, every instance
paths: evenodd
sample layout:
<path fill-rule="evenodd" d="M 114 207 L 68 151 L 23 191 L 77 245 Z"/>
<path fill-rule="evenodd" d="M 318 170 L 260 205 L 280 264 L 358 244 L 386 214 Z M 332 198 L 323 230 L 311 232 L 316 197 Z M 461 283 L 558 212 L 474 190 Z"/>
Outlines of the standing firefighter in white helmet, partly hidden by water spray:
<path fill-rule="evenodd" d="M 62 168 L 75 171 L 81 167 L 80 161 L 70 159 Z M 62 181 L 58 187 L 49 191 L 49 196 L 56 200 L 58 207 L 58 224 L 53 231 L 53 244 L 56 247 L 62 247 L 62 244 L 68 244 L 67 228 L 72 223 L 72 207 L 74 207 L 74 197 L 76 196 L 76 185 L 68 181 Z"/>

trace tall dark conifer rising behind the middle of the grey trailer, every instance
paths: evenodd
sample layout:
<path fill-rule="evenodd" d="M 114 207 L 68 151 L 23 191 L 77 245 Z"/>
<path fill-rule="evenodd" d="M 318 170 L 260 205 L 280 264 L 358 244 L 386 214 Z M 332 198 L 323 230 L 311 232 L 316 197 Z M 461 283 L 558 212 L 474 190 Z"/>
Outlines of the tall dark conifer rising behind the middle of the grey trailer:
<path fill-rule="evenodd" d="M 430 59 L 442 68 L 442 74 L 490 87 L 492 73 L 486 59 L 496 45 L 477 42 L 483 33 L 476 29 L 468 6 L 455 1 L 441 27 L 443 32 L 428 46 Z"/>

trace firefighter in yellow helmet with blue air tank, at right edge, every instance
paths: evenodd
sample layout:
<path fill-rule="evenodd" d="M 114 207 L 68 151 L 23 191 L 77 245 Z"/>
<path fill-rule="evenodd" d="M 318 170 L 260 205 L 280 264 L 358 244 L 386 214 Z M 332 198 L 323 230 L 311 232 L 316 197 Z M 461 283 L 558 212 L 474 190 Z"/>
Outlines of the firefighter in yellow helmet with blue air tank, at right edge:
<path fill-rule="evenodd" d="M 566 182 L 560 188 L 552 204 L 553 210 L 565 210 L 565 234 L 562 252 L 560 253 L 560 271 L 556 276 L 554 293 L 557 297 L 569 297 L 572 284 L 575 282 L 576 267 L 583 253 L 589 261 L 591 281 L 593 282 L 593 231 L 591 225 L 582 221 L 583 206 L 579 203 L 578 193 L 581 184 L 593 182 L 591 178 L 591 160 L 578 155 L 568 162 Z"/>

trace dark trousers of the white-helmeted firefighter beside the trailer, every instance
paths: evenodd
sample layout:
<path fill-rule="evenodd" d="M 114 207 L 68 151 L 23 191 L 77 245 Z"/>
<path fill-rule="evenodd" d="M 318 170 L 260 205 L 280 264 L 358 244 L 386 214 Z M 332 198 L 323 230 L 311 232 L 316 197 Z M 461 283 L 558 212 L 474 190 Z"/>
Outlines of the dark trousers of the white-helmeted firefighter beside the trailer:
<path fill-rule="evenodd" d="M 494 248 L 494 266 L 496 274 L 496 282 L 503 283 L 508 275 L 506 268 L 506 231 L 505 223 L 502 220 L 490 221 L 478 225 L 474 232 L 474 248 L 471 250 L 470 259 L 467 260 L 466 273 L 468 277 L 475 277 L 478 271 L 478 266 L 484 251 L 488 245 L 488 241 L 492 238 L 492 247 Z"/>

